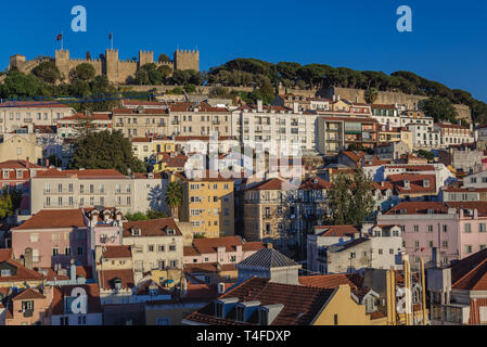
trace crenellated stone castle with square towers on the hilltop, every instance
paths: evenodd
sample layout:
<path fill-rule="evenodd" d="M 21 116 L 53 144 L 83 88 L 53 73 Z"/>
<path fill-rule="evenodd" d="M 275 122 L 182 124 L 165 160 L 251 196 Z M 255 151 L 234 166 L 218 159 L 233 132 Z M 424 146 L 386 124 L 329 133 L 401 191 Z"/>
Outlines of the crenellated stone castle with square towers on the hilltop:
<path fill-rule="evenodd" d="M 15 54 L 10 57 L 10 66 L 18 70 L 29 74 L 40 63 L 52 60 L 49 57 L 40 57 L 27 61 L 24 55 Z M 153 51 L 139 51 L 139 61 L 120 61 L 118 59 L 118 50 L 106 50 L 105 54 L 95 60 L 71 59 L 69 50 L 56 50 L 54 57 L 55 65 L 60 69 L 65 79 L 69 77 L 69 72 L 76 66 L 87 63 L 94 67 L 97 75 L 105 75 L 113 83 L 124 85 L 131 78 L 136 77 L 139 68 L 145 64 L 154 63 L 157 67 L 166 65 L 172 70 L 194 69 L 200 70 L 200 51 L 177 50 L 171 62 L 154 61 Z"/>

